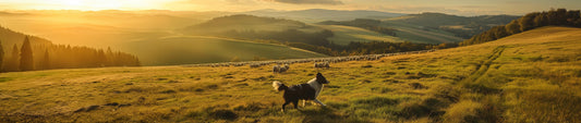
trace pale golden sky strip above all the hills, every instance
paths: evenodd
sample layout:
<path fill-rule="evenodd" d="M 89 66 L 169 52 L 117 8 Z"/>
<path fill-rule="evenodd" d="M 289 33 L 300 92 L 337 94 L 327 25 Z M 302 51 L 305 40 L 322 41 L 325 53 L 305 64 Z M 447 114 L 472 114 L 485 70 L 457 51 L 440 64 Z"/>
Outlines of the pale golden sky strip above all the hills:
<path fill-rule="evenodd" d="M 581 0 L 1 0 L 0 10 L 173 10 L 243 12 L 330 9 L 394 13 L 440 12 L 457 15 L 522 15 L 565 8 L 580 10 Z"/>

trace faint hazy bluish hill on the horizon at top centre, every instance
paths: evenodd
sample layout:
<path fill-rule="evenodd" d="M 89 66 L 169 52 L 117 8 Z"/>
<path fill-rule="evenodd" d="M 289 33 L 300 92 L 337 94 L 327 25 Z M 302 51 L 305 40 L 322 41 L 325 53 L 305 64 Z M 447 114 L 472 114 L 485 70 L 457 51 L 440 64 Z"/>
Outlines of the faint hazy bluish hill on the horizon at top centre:
<path fill-rule="evenodd" d="M 316 23 L 322 21 L 349 21 L 353 19 L 386 19 L 401 16 L 406 14 L 389 13 L 379 11 L 343 11 L 343 10 L 324 10 L 324 9 L 311 9 L 311 10 L 298 10 L 298 11 L 278 11 L 278 10 L 256 10 L 250 12 L 242 12 L 243 14 L 252 14 L 258 16 L 273 16 L 282 17 L 289 20 L 298 20 L 307 23 Z"/>

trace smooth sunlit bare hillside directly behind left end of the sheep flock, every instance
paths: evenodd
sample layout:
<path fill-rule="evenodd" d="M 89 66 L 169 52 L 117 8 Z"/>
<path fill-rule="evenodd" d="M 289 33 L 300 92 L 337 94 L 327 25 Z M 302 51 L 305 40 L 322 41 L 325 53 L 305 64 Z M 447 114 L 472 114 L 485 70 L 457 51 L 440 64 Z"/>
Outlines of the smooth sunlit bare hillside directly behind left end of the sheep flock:
<path fill-rule="evenodd" d="M 134 41 L 124 45 L 123 48 L 140 57 L 144 65 L 228 62 L 234 58 L 240 61 L 252 61 L 255 58 L 278 60 L 326 57 L 280 45 L 203 36 Z"/>

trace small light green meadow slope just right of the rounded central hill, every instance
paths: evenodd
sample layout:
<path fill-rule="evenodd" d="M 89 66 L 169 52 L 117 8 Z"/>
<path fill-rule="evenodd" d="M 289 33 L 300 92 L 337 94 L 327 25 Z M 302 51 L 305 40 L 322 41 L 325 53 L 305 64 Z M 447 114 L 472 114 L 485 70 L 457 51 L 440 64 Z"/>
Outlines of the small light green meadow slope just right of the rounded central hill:
<path fill-rule="evenodd" d="M 342 25 L 317 25 L 322 28 L 331 30 L 335 35 L 328 38 L 330 41 L 337 45 L 348 45 L 351 41 L 390 41 L 401 42 L 402 39 L 376 32 Z"/>

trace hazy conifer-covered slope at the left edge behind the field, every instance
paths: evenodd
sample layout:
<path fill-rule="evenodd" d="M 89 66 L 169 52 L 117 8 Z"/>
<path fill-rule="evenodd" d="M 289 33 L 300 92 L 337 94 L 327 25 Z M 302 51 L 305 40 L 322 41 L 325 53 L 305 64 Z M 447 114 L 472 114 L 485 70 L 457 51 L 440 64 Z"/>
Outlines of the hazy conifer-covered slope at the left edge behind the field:
<path fill-rule="evenodd" d="M 21 46 L 14 44 L 4 51 L 0 40 L 1 72 L 140 65 L 137 57 L 110 48 L 105 51 L 88 47 L 31 44 L 29 36 L 25 36 Z"/>

